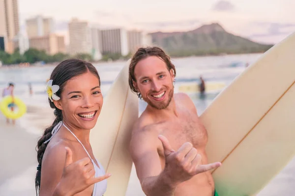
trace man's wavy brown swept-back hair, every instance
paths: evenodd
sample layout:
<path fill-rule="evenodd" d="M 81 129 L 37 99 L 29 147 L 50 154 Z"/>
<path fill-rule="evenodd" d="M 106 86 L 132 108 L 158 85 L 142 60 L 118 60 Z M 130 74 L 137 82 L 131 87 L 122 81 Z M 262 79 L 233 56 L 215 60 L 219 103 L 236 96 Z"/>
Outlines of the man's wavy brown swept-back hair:
<path fill-rule="evenodd" d="M 168 71 L 171 69 L 173 70 L 174 76 L 176 76 L 176 70 L 175 66 L 170 60 L 170 56 L 164 52 L 163 49 L 159 47 L 147 47 L 147 48 L 139 48 L 133 57 L 131 58 L 130 66 L 129 66 L 129 86 L 131 91 L 137 93 L 138 97 L 141 98 L 141 94 L 138 92 L 138 90 L 135 88 L 133 85 L 133 81 L 136 82 L 135 74 L 134 74 L 134 69 L 137 63 L 148 56 L 157 56 L 161 58 L 167 66 Z"/>

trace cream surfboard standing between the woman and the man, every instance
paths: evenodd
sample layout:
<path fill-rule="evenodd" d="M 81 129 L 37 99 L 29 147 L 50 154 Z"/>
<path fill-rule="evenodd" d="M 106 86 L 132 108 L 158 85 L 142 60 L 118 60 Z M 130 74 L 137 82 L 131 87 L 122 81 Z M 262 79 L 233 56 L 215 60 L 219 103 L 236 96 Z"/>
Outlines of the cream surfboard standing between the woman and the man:
<path fill-rule="evenodd" d="M 138 119 L 138 97 L 128 84 L 129 63 L 109 89 L 97 123 L 90 131 L 94 156 L 112 174 L 104 196 L 125 196 L 132 167 L 128 146 L 132 126 Z"/>

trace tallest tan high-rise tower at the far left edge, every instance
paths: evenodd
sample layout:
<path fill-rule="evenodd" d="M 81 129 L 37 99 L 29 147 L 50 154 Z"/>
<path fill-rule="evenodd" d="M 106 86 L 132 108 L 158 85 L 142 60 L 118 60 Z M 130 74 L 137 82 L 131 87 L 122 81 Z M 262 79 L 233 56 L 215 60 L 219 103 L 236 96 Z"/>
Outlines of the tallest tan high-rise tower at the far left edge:
<path fill-rule="evenodd" d="M 20 31 L 17 0 L 0 0 L 0 37 L 5 51 L 14 51 L 13 38 Z"/>

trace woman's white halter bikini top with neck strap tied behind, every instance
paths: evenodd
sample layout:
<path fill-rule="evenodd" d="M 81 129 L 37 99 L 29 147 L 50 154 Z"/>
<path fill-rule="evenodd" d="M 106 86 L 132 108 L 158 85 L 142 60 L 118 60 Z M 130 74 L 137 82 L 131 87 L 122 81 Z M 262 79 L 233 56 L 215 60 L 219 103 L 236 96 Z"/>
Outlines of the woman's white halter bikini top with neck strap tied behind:
<path fill-rule="evenodd" d="M 80 140 L 76 137 L 76 135 L 64 124 L 61 122 L 59 122 L 52 130 L 52 136 L 51 138 L 49 138 L 49 140 L 47 140 L 46 142 L 44 142 L 45 144 L 47 142 L 49 142 L 52 137 L 58 132 L 59 128 L 61 127 L 61 125 L 63 125 L 69 132 L 71 132 L 71 134 L 77 139 L 77 141 L 82 145 L 82 147 L 85 149 L 87 155 L 89 156 L 89 158 L 91 159 L 88 151 L 86 150 L 86 148 L 84 147 L 84 145 L 80 142 Z M 95 164 L 95 162 L 93 161 L 93 159 L 91 159 L 91 162 L 93 164 L 93 167 L 94 167 L 94 171 L 95 171 L 95 177 L 99 177 L 99 176 L 102 176 L 102 175 L 105 175 L 106 172 L 104 171 L 102 165 L 97 161 L 96 159 L 96 162 L 98 163 L 98 166 Z M 92 192 L 92 196 L 103 196 L 103 194 L 107 191 L 107 180 L 102 180 L 100 182 L 97 182 L 94 184 L 94 188 L 93 188 L 93 192 Z"/>

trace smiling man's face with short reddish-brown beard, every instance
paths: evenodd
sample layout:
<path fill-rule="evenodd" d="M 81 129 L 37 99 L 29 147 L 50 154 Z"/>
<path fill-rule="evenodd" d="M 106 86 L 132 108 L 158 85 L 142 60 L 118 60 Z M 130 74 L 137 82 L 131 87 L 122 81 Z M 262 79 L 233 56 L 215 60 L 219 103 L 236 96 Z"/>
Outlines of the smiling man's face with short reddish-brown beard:
<path fill-rule="evenodd" d="M 173 71 L 168 71 L 166 63 L 157 56 L 149 56 L 139 61 L 134 69 L 133 82 L 142 98 L 156 109 L 168 107 L 173 94 Z"/>

